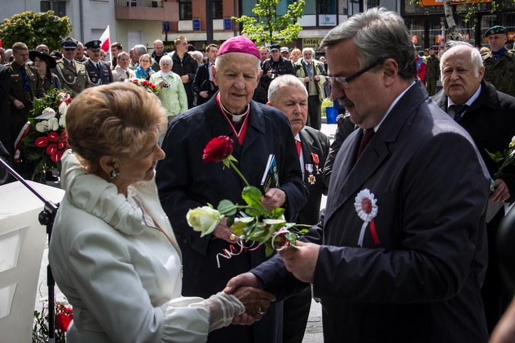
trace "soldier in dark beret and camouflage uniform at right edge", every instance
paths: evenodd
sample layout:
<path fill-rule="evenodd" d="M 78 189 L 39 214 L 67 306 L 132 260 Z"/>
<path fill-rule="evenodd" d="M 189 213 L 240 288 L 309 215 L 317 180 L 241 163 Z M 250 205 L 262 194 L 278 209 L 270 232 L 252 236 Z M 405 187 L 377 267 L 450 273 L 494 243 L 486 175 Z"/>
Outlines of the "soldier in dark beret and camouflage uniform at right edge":
<path fill-rule="evenodd" d="M 496 25 L 486 30 L 490 52 L 483 54 L 485 76 L 497 91 L 515 96 L 515 54 L 505 48 L 507 41 L 506 27 Z"/>

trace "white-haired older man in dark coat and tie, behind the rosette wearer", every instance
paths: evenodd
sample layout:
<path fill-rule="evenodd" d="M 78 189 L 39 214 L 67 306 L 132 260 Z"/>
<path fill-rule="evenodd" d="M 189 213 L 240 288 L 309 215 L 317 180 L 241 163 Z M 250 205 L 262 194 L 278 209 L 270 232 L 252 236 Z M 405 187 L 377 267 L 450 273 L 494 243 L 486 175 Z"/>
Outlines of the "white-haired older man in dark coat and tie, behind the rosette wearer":
<path fill-rule="evenodd" d="M 499 167 L 486 150 L 503 152 L 515 136 L 515 97 L 496 91 L 492 84 L 483 80 L 484 72 L 485 67 L 477 49 L 468 43 L 451 47 L 442 56 L 444 88 L 433 96 L 433 100 L 472 136 L 494 179 Z M 463 113 L 457 113 L 456 106 L 461 105 L 466 105 L 466 108 L 462 110 Z M 513 292 L 499 273 L 496 235 L 505 215 L 502 204 L 514 200 L 515 168 L 507 167 L 494 182 L 496 189 L 490 195 L 488 204 L 493 211 L 487 217 L 488 270 L 481 289 L 489 333 L 492 333 L 513 297 Z"/>

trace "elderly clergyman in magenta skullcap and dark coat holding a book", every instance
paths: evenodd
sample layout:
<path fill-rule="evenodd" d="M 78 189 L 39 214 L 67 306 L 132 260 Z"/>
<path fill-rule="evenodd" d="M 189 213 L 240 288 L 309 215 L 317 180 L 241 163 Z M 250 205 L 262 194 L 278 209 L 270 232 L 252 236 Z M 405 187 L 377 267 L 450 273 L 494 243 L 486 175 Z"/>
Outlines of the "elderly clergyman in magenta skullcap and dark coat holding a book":
<path fill-rule="evenodd" d="M 220 292 L 231 277 L 266 259 L 264 246 L 244 248 L 240 255 L 225 259 L 224 250 L 239 249 L 238 236 L 225 220 L 202 238 L 187 224 L 190 209 L 208 203 L 216 207 L 224 199 L 243 202 L 244 183 L 233 169 L 224 169 L 222 163 L 203 163 L 203 150 L 211 139 L 226 135 L 233 140 L 238 168 L 250 185 L 260 189 L 268 156 L 275 154 L 279 188 L 264 194 L 261 202 L 266 209 L 282 206 L 286 220 L 292 221 L 306 202 L 288 118 L 275 108 L 251 101 L 261 75 L 259 58 L 258 48 L 248 38 L 237 36 L 223 43 L 213 75 L 220 91 L 206 104 L 178 115 L 163 141 L 167 156 L 157 165 L 156 180 L 183 255 L 184 296 Z M 225 327 L 209 333 L 207 342 L 280 342 L 281 318 L 282 304 L 272 305 L 252 327 Z"/>

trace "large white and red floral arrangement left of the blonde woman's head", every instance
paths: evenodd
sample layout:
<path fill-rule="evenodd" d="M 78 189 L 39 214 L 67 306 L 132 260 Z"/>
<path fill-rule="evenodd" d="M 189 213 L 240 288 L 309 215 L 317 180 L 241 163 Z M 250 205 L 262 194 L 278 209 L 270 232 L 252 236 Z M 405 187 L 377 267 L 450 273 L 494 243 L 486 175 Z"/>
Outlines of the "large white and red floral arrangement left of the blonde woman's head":
<path fill-rule="evenodd" d="M 14 143 L 14 161 L 23 158 L 36 163 L 32 180 L 43 171 L 60 169 L 61 156 L 69 148 L 65 116 L 70 102 L 68 91 L 54 88 L 34 99 L 32 116 Z"/>

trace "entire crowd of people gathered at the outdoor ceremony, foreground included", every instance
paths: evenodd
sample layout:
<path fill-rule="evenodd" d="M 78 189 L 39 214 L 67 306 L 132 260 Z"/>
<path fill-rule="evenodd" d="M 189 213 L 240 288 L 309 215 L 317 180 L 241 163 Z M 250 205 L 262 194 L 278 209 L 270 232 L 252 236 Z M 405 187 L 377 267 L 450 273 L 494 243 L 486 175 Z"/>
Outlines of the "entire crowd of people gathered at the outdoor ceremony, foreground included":
<path fill-rule="evenodd" d="M 0 65 L 10 152 L 34 97 L 73 96 L 49 248 L 70 342 L 301 343 L 312 297 L 324 342 L 507 342 L 515 305 L 495 329 L 513 296 L 495 241 L 515 167 L 499 175 L 487 152 L 515 136 L 506 35 L 488 29 L 483 54 L 450 41 L 419 56 L 403 19 L 371 8 L 332 29 L 319 60 L 244 36 L 204 53 L 183 36 L 172 54 L 161 40 L 152 54 L 113 43 L 110 63 L 99 40 L 67 37 L 52 53 L 16 43 Z M 320 132 L 329 91 L 345 112 L 332 144 Z M 220 136 L 245 182 L 204 163 Z M 277 185 L 264 189 L 271 156 Z M 268 211 L 311 226 L 297 248 L 268 257 L 227 218 L 205 235 L 188 224 L 191 209 L 241 203 L 246 183 Z"/>

